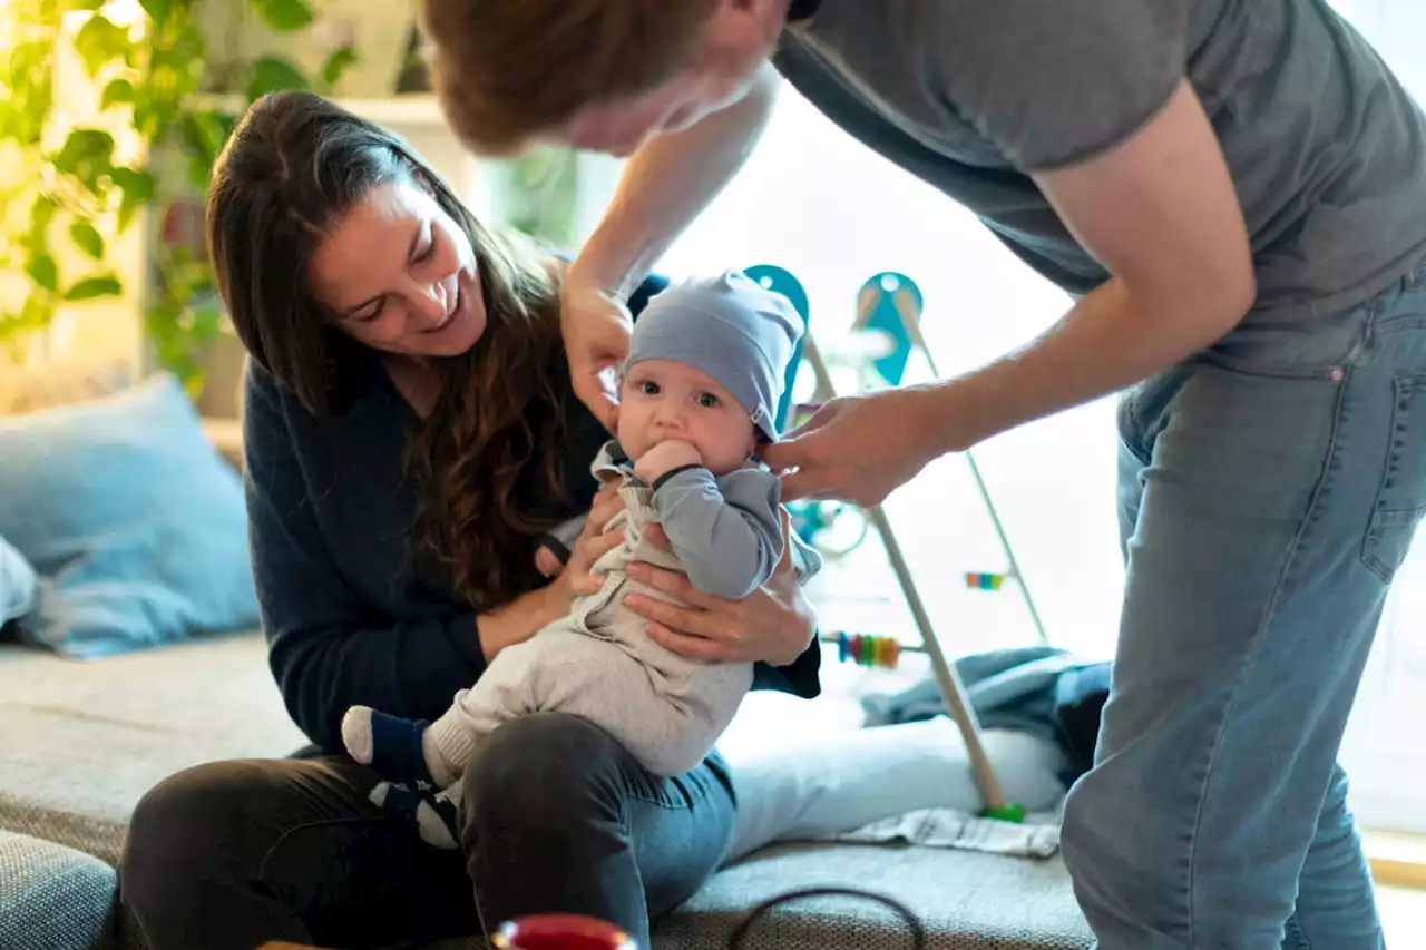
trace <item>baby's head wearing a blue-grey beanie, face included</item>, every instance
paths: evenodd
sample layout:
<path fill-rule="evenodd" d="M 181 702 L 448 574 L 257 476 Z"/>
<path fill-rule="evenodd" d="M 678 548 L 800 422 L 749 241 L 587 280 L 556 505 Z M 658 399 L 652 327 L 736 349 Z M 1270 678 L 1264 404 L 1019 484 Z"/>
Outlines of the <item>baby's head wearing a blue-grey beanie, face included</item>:
<path fill-rule="evenodd" d="M 665 439 L 699 449 L 722 475 L 777 439 L 787 364 L 806 327 L 781 294 L 737 271 L 657 294 L 635 322 L 619 442 L 637 459 Z"/>

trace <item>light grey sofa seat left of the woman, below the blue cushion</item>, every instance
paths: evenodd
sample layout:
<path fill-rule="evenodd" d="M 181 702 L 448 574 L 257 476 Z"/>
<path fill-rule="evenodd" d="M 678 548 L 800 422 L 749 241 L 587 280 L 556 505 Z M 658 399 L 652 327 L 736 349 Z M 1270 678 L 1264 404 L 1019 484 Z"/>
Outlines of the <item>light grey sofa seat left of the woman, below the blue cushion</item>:
<path fill-rule="evenodd" d="M 87 663 L 0 648 L 0 827 L 110 863 L 165 776 L 304 742 L 254 633 Z"/>

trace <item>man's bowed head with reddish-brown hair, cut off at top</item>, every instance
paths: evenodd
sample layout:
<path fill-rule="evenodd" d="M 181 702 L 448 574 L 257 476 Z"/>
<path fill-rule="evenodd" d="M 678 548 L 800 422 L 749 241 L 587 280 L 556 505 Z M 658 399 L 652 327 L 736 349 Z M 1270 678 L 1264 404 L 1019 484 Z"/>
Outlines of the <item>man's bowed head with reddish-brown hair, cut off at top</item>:
<path fill-rule="evenodd" d="M 446 120 L 472 150 L 629 154 L 736 103 L 789 0 L 422 0 Z"/>

